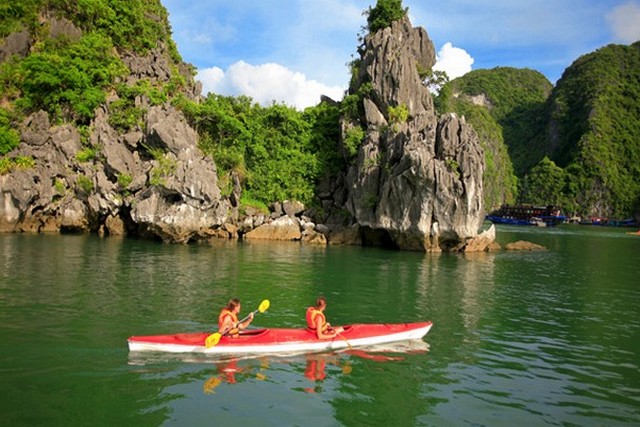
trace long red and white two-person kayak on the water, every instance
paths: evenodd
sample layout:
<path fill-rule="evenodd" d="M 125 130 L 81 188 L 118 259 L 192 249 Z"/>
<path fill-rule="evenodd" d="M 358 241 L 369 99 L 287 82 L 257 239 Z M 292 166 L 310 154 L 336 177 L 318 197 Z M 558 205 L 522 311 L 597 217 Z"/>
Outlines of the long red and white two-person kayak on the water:
<path fill-rule="evenodd" d="M 236 338 L 223 336 L 217 345 L 209 348 L 205 346 L 205 340 L 210 332 L 132 336 L 127 341 L 132 352 L 290 354 L 418 340 L 429 332 L 431 326 L 431 322 L 352 324 L 344 326 L 344 331 L 336 337 L 323 340 L 305 328 L 253 329 L 242 331 Z"/>

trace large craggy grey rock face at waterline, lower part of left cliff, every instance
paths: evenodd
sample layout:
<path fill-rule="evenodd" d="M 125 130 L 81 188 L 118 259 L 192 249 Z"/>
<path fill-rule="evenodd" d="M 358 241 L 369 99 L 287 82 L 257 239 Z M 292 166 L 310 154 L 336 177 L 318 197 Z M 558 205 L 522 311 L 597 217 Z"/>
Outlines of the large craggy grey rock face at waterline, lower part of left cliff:
<path fill-rule="evenodd" d="M 24 125 L 13 153 L 35 167 L 0 176 L 0 231 L 106 231 L 187 242 L 210 237 L 226 218 L 216 168 L 171 106 L 152 107 L 146 133 L 119 135 L 103 110 L 90 135 L 100 156 L 79 161 L 80 135 L 50 127 L 47 113 Z M 147 148 L 162 152 L 153 157 Z M 126 177 L 126 178 L 124 178 Z"/>

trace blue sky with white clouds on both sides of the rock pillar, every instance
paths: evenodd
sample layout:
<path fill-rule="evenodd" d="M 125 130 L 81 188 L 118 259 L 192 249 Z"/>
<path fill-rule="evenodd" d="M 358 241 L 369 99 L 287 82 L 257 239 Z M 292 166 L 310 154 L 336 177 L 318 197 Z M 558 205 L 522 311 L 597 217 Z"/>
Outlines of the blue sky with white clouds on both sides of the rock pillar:
<path fill-rule="evenodd" d="M 298 109 L 342 99 L 376 0 L 161 0 L 203 94 Z M 404 0 L 450 79 L 498 66 L 552 84 L 580 56 L 640 40 L 640 0 Z"/>

